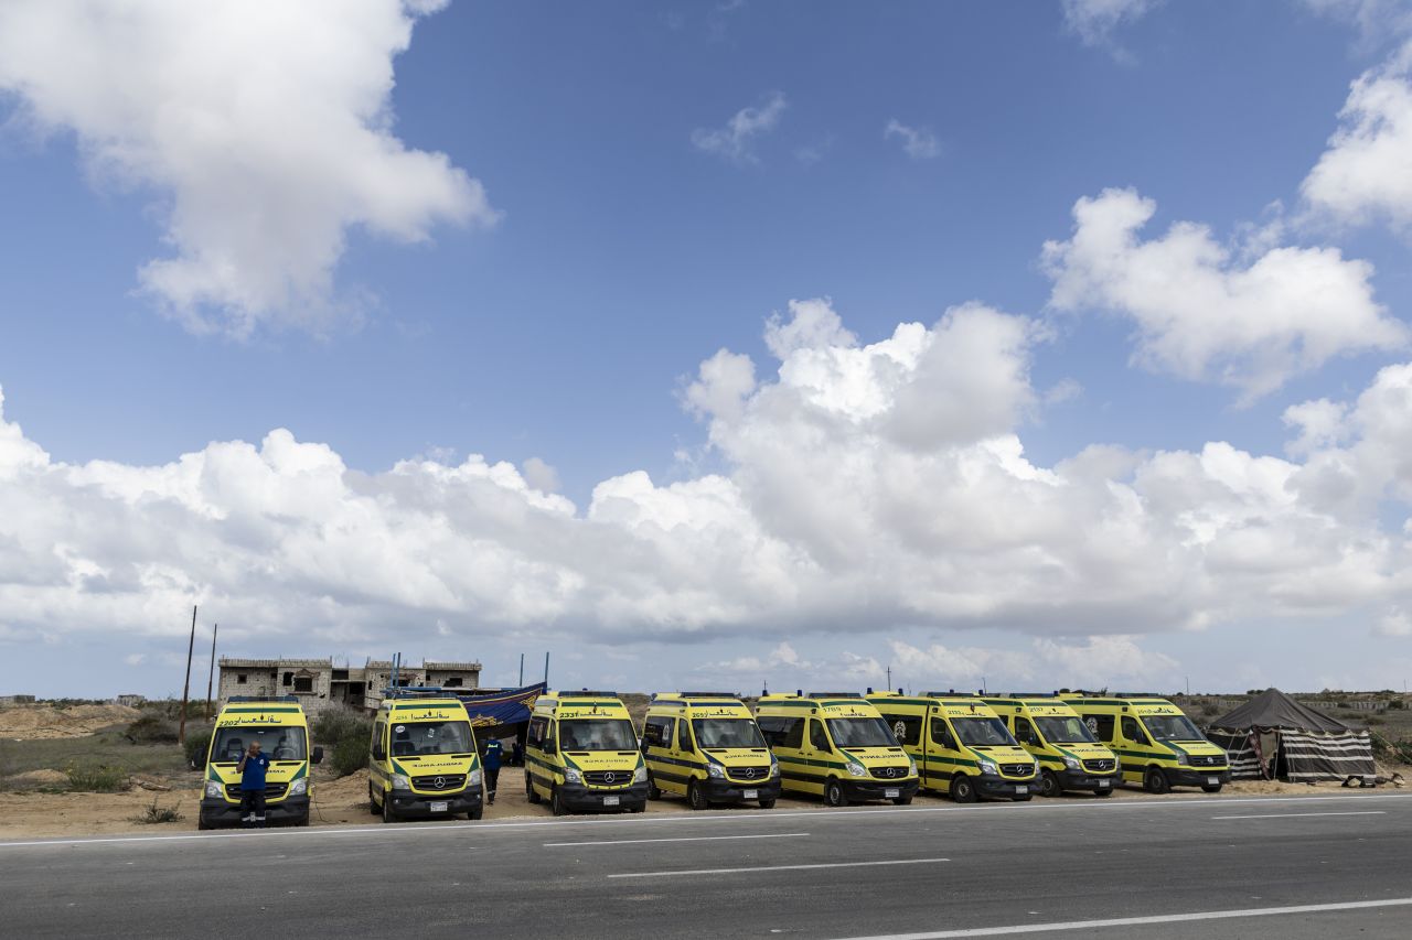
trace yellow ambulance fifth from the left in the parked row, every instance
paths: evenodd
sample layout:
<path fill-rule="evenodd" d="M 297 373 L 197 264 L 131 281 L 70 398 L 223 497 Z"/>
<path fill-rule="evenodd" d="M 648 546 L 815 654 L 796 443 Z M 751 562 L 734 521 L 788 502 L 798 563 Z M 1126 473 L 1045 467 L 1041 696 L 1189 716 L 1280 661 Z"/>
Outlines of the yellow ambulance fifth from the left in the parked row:
<path fill-rule="evenodd" d="M 829 806 L 916 795 L 916 765 L 878 710 L 856 692 L 762 696 L 755 721 L 779 762 L 786 790 L 823 796 Z"/>

